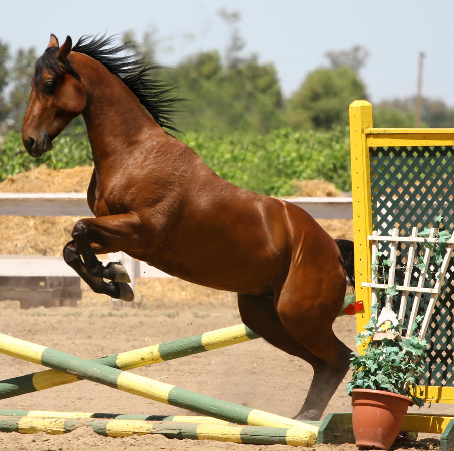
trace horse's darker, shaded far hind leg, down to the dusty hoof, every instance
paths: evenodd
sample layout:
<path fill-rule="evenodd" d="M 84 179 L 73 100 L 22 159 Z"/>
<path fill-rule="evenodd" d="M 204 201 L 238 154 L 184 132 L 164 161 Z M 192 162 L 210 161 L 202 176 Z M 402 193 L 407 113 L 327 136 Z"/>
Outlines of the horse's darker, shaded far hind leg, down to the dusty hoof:
<path fill-rule="evenodd" d="M 298 414 L 299 420 L 319 420 L 332 395 L 348 370 L 350 349 L 342 344 L 342 363 L 333 370 L 321 357 L 305 347 L 287 329 L 279 318 L 272 296 L 238 295 L 240 316 L 247 326 L 273 346 L 308 362 L 313 369 L 313 378 Z M 300 327 L 304 328 L 306 321 Z"/>

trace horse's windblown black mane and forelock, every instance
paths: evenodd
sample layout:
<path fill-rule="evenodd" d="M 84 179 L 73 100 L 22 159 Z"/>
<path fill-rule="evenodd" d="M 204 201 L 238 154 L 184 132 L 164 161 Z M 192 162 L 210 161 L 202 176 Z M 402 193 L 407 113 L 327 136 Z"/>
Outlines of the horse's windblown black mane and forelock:
<path fill-rule="evenodd" d="M 116 45 L 115 39 L 115 36 L 82 36 L 72 50 L 99 61 L 112 74 L 123 80 L 161 127 L 180 132 L 173 121 L 177 112 L 175 105 L 179 102 L 173 95 L 175 84 L 153 78 L 152 73 L 161 67 L 152 65 L 146 56 L 138 53 L 132 42 Z M 80 80 L 69 61 L 67 67 L 61 67 L 56 51 L 56 47 L 47 48 L 36 62 L 34 79 L 38 91 L 44 68 L 55 76 L 65 70 Z"/>

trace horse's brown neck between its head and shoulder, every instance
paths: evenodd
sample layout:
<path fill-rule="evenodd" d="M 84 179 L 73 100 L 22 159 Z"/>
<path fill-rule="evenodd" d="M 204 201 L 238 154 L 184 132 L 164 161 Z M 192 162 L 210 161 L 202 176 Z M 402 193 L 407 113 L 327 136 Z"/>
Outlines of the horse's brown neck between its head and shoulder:
<path fill-rule="evenodd" d="M 84 63 L 84 69 L 79 71 L 87 91 L 87 105 L 82 115 L 95 166 L 99 168 L 101 162 L 113 159 L 124 161 L 126 154 L 134 152 L 135 143 L 143 134 L 148 137 L 150 134 L 165 134 L 118 76 L 100 62 L 86 55 L 77 55 L 75 59 Z"/>

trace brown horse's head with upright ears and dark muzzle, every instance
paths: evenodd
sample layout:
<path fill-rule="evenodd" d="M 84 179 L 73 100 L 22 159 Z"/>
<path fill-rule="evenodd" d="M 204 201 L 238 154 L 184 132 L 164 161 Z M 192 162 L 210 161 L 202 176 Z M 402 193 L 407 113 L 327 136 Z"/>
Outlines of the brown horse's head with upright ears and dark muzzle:
<path fill-rule="evenodd" d="M 71 64 L 71 38 L 59 46 L 55 35 L 35 65 L 22 125 L 22 142 L 32 157 L 52 149 L 52 140 L 85 108 L 87 96 Z"/>

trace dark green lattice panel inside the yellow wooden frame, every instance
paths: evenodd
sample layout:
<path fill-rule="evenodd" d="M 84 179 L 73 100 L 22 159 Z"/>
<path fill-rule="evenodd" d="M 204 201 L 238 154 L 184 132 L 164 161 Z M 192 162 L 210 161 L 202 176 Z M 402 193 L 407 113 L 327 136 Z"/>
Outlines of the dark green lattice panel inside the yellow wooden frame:
<path fill-rule="evenodd" d="M 370 167 L 374 230 L 389 234 L 398 227 L 400 235 L 409 235 L 412 227 L 436 226 L 441 214 L 444 228 L 454 231 L 454 147 L 370 148 Z M 405 243 L 400 250 L 398 266 L 404 267 Z M 431 349 L 423 385 L 454 386 L 453 316 L 451 265 L 426 337 Z"/>

